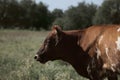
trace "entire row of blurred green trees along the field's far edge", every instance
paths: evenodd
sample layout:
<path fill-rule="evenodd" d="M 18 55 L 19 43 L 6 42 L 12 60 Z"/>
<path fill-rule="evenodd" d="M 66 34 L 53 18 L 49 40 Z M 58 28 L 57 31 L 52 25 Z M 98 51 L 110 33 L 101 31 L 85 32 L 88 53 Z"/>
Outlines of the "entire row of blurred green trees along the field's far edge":
<path fill-rule="evenodd" d="M 81 2 L 66 11 L 48 7 L 34 0 L 0 0 L 0 28 L 47 30 L 57 24 L 63 29 L 79 29 L 120 24 L 120 0 L 104 0 L 101 6 Z"/>

